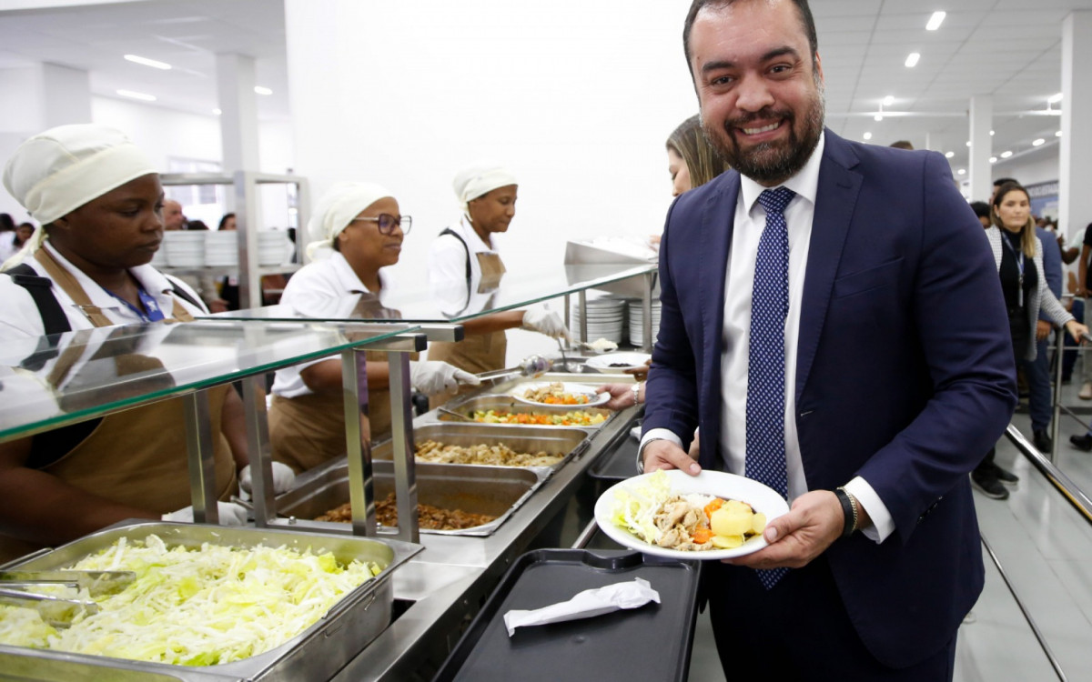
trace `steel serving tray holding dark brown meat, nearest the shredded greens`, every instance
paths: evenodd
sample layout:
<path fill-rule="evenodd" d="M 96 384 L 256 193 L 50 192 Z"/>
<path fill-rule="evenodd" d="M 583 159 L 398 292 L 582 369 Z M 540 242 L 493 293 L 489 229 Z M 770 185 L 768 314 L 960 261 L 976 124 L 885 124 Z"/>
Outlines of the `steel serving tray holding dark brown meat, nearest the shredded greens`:
<path fill-rule="evenodd" d="M 394 467 L 391 462 L 376 462 L 376 499 L 382 500 L 394 492 Z M 417 502 L 440 508 L 462 510 L 475 514 L 496 516 L 488 524 L 461 530 L 432 530 L 428 535 L 460 535 L 486 537 L 494 534 L 549 476 L 544 467 L 494 467 L 468 464 L 416 465 Z M 306 477 L 306 478 L 305 478 Z M 295 516 L 297 527 L 328 529 L 342 527 L 337 522 L 310 521 L 316 516 L 345 504 L 349 500 L 348 465 L 344 458 L 321 469 L 311 469 L 296 479 L 296 486 L 277 498 L 277 513 Z M 381 527 L 380 533 L 393 533 Z"/>

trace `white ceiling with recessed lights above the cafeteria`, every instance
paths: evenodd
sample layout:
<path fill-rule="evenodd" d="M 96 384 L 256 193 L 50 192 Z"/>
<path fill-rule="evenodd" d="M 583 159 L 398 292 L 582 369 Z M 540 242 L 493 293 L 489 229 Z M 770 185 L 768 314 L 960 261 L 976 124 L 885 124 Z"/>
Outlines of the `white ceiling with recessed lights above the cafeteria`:
<path fill-rule="evenodd" d="M 1072 10 L 1092 10 L 1092 0 L 812 0 L 811 8 L 828 124 L 839 134 L 860 140 L 867 131 L 876 144 L 907 139 L 918 147 L 928 134 L 933 148 L 956 153 L 959 168 L 966 163 L 970 97 L 992 95 L 995 153 L 1031 153 L 1036 137 L 1047 140 L 1043 151 L 1057 144 L 1060 119 L 1030 112 L 1046 109 L 1046 98 L 1060 92 L 1061 22 Z M 948 16 L 939 31 L 927 32 L 934 10 Z M 260 117 L 284 118 L 284 33 L 282 0 L 7 11 L 0 12 L 0 68 L 49 61 L 85 69 L 96 95 L 133 89 L 155 95 L 157 106 L 207 115 L 217 104 L 215 55 L 239 52 L 257 59 L 258 82 L 274 91 L 258 98 Z M 903 61 L 912 51 L 922 60 L 907 69 Z M 175 68 L 149 69 L 122 60 L 124 53 Z M 888 95 L 894 103 L 877 122 L 873 115 Z"/>

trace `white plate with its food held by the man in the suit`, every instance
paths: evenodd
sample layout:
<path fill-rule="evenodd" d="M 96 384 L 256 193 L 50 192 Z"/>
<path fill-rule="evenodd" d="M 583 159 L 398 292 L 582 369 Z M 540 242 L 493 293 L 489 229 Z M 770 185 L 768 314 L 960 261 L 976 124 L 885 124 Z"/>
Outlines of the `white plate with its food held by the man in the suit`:
<path fill-rule="evenodd" d="M 670 559 L 732 559 L 765 547 L 762 530 L 788 503 L 762 483 L 723 471 L 654 471 L 608 488 L 595 521 L 612 540 Z"/>

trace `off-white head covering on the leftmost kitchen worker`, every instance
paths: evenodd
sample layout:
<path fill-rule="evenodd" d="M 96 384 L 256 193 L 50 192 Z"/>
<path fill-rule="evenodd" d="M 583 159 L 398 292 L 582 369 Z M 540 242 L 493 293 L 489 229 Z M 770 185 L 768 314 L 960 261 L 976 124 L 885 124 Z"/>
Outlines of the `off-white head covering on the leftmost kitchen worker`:
<path fill-rule="evenodd" d="M 19 145 L 4 166 L 3 186 L 45 226 L 153 172 L 144 153 L 121 131 L 78 123 L 50 128 Z M 12 261 L 36 251 L 44 239 L 45 230 L 35 230 Z"/>

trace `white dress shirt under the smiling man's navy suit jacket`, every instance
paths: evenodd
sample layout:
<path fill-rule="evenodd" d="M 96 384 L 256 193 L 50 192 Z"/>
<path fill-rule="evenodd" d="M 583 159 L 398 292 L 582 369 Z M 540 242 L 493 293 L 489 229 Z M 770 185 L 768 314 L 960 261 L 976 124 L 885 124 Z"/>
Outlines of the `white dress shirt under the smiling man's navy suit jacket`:
<path fill-rule="evenodd" d="M 800 304 L 804 298 L 804 277 L 807 271 L 808 248 L 811 241 L 811 223 L 815 217 L 816 195 L 819 188 L 819 167 L 826 135 L 811 153 L 808 163 L 786 180 L 786 187 L 796 196 L 785 208 L 788 227 L 788 316 L 785 320 L 785 467 L 788 478 L 788 500 L 808 491 L 800 458 L 800 444 L 796 433 L 796 355 L 800 332 Z M 765 210 L 758 203 L 765 189 L 747 177 L 740 177 L 739 199 L 736 202 L 732 246 L 725 272 L 724 330 L 721 351 L 721 453 L 724 468 L 733 474 L 746 475 L 747 460 L 747 370 L 750 349 L 751 291 L 755 284 L 755 263 L 758 243 L 765 227 Z M 653 429 L 641 442 L 664 438 L 677 444 L 681 439 L 666 429 Z M 881 542 L 894 530 L 894 519 L 880 501 L 873 487 L 859 476 L 845 484 L 846 490 L 867 510 L 871 525 L 864 529 L 866 537 Z"/>

